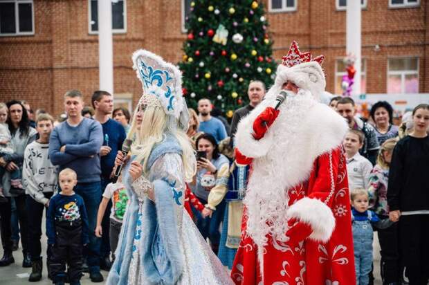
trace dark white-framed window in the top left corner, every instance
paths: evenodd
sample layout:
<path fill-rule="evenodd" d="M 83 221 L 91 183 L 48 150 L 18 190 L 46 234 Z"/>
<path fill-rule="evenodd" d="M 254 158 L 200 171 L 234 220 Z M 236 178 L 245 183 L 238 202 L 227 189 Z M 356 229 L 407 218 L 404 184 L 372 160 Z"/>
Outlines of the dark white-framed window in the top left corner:
<path fill-rule="evenodd" d="M 34 33 L 33 0 L 0 0 L 0 36 Z"/>

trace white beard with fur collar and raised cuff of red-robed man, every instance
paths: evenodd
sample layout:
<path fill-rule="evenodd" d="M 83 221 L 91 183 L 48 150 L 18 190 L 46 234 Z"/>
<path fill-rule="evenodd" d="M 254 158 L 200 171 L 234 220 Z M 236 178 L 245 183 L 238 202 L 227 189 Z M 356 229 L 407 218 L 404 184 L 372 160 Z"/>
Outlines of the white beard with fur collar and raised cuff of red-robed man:
<path fill-rule="evenodd" d="M 318 103 L 311 93 L 300 90 L 286 98 L 280 114 L 261 140 L 253 139 L 253 121 L 266 107 L 275 104 L 280 88 L 272 88 L 237 129 L 237 147 L 253 157 L 244 205 L 247 235 L 257 246 L 265 246 L 268 235 L 288 241 L 289 190 L 307 181 L 314 160 L 343 140 L 347 124 L 335 111 Z M 304 191 L 304 190 L 303 190 Z"/>

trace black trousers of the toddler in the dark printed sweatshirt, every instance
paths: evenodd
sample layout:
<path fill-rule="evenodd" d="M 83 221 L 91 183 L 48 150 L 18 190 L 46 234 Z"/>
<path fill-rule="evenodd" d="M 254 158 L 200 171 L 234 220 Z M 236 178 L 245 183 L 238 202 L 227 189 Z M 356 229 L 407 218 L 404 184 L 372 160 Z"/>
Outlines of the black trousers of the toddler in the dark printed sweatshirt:
<path fill-rule="evenodd" d="M 55 222 L 55 245 L 51 245 L 51 276 L 53 282 L 64 282 L 67 272 L 71 282 L 82 275 L 82 221 Z"/>

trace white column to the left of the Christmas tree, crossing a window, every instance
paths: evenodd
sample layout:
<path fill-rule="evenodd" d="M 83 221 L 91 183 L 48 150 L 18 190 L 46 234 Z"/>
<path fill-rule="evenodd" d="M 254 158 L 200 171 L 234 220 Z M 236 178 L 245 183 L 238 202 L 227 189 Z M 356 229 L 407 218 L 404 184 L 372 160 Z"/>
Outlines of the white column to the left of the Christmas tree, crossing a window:
<path fill-rule="evenodd" d="M 111 0 L 98 0 L 98 68 L 100 90 L 113 95 Z"/>

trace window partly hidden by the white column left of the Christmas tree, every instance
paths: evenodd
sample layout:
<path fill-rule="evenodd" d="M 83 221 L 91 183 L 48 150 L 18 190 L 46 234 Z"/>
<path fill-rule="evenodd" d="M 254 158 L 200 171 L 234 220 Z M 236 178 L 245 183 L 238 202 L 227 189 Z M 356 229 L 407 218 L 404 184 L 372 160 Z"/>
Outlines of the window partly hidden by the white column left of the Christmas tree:
<path fill-rule="evenodd" d="M 98 34 L 98 1 L 89 0 L 89 33 Z M 127 33 L 127 1 L 111 0 L 111 28 L 113 33 Z"/>

